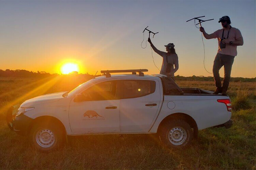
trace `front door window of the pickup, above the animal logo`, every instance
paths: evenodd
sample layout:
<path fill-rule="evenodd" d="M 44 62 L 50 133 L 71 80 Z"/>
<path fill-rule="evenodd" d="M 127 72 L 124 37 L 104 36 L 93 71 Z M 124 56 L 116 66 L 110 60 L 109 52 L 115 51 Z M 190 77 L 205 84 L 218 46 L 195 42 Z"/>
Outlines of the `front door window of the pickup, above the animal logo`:
<path fill-rule="evenodd" d="M 117 81 L 98 83 L 82 93 L 87 101 L 114 100 L 116 98 Z"/>

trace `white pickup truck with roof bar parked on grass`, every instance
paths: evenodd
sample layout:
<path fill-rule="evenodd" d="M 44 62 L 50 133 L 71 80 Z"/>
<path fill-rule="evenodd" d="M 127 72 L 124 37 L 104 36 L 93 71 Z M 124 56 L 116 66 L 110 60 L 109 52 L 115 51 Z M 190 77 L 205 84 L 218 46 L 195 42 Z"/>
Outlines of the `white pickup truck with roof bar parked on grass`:
<path fill-rule="evenodd" d="M 69 92 L 29 99 L 13 106 L 7 123 L 30 135 L 40 151 L 53 150 L 67 136 L 157 133 L 168 147 L 188 146 L 198 130 L 233 124 L 228 96 L 198 88 L 179 88 L 161 74 L 107 70 Z M 112 72 L 132 74 L 110 75 Z M 136 74 L 139 72 L 139 74 Z"/>

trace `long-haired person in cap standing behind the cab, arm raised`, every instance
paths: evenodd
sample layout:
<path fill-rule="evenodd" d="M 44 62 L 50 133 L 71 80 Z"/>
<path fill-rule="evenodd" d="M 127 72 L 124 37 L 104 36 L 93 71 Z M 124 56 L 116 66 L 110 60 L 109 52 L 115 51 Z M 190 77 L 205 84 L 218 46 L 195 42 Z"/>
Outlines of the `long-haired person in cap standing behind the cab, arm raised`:
<path fill-rule="evenodd" d="M 167 75 L 168 77 L 172 78 L 174 80 L 174 73 L 179 69 L 179 61 L 178 56 L 174 49 L 174 44 L 169 43 L 166 45 L 166 52 L 158 50 L 151 42 L 151 39 L 148 38 L 148 43 L 150 43 L 153 50 L 159 54 L 163 58 L 162 67 L 160 74 Z M 175 66 L 175 68 L 173 67 Z"/>

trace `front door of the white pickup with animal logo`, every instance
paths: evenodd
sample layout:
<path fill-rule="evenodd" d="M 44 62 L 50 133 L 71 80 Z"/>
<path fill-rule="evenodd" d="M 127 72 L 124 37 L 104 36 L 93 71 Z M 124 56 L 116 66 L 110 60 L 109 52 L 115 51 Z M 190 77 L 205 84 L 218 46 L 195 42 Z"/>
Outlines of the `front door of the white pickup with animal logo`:
<path fill-rule="evenodd" d="M 116 94 L 117 87 L 118 81 L 98 83 L 71 100 L 69 120 L 74 134 L 120 131 L 120 97 Z"/>

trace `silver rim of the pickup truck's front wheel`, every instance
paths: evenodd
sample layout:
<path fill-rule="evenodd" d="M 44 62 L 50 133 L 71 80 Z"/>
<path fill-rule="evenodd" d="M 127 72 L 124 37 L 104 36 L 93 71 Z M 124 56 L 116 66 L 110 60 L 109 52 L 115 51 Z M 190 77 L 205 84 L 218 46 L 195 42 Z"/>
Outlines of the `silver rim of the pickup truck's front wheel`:
<path fill-rule="evenodd" d="M 35 138 L 36 138 L 35 140 L 37 141 L 37 144 L 43 148 L 51 147 L 55 142 L 54 134 L 49 129 L 38 131 Z"/>

